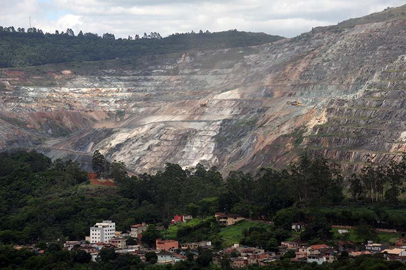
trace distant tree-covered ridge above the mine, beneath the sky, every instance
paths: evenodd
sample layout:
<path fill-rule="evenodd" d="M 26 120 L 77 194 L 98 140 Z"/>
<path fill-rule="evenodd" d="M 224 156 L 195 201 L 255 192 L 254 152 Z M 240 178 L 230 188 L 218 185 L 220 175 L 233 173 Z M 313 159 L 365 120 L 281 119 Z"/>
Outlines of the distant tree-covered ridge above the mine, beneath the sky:
<path fill-rule="evenodd" d="M 158 33 L 159 34 L 159 33 Z M 73 61 L 98 61 L 144 55 L 178 53 L 189 50 L 216 50 L 261 45 L 282 37 L 264 33 L 229 30 L 224 32 L 177 33 L 159 38 L 116 39 L 113 34 L 75 35 L 43 33 L 40 29 L 0 26 L 0 68 L 33 66 Z M 151 36 L 150 35 L 150 36 Z"/>

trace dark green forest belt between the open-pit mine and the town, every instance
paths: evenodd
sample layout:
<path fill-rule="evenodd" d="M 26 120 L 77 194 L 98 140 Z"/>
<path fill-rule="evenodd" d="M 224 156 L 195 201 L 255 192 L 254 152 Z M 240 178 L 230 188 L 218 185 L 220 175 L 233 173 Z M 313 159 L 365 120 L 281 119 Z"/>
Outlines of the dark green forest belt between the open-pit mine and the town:
<path fill-rule="evenodd" d="M 367 167 L 357 176 L 358 188 L 364 196 L 351 199 L 343 195 L 345 181 L 339 167 L 320 158 L 302 157 L 286 170 L 261 169 L 257 174 L 231 172 L 223 179 L 215 167 L 207 170 L 200 164 L 185 170 L 167 164 L 165 170 L 154 175 L 128 176 L 125 164 L 109 163 L 95 152 L 94 170 L 101 176 L 114 178 L 117 188 L 90 185 L 78 163 L 51 162 L 35 151 L 2 153 L 0 167 L 0 241 L 3 243 L 83 239 L 89 226 L 101 219 L 115 220 L 120 230 L 137 222 L 168 222 L 177 213 L 205 218 L 218 211 L 274 220 L 281 228 L 291 222 L 314 220 L 316 215 L 334 224 L 357 225 L 362 221 L 390 228 L 406 225 L 406 218 L 396 212 L 385 213 L 380 209 L 380 202 L 376 204 L 369 197 L 367 179 L 375 167 Z M 379 168 L 383 176 L 377 179 L 387 186 L 385 194 L 380 196 L 381 202 L 390 202 L 392 207 L 401 209 L 403 202 L 399 194 L 404 183 L 404 162 Z M 395 188 L 397 191 L 393 192 Z M 372 214 L 371 211 L 352 214 L 328 208 L 347 203 L 371 204 L 374 209 Z M 319 206 L 326 209 L 309 211 Z M 380 223 L 374 213 L 379 213 Z"/>

